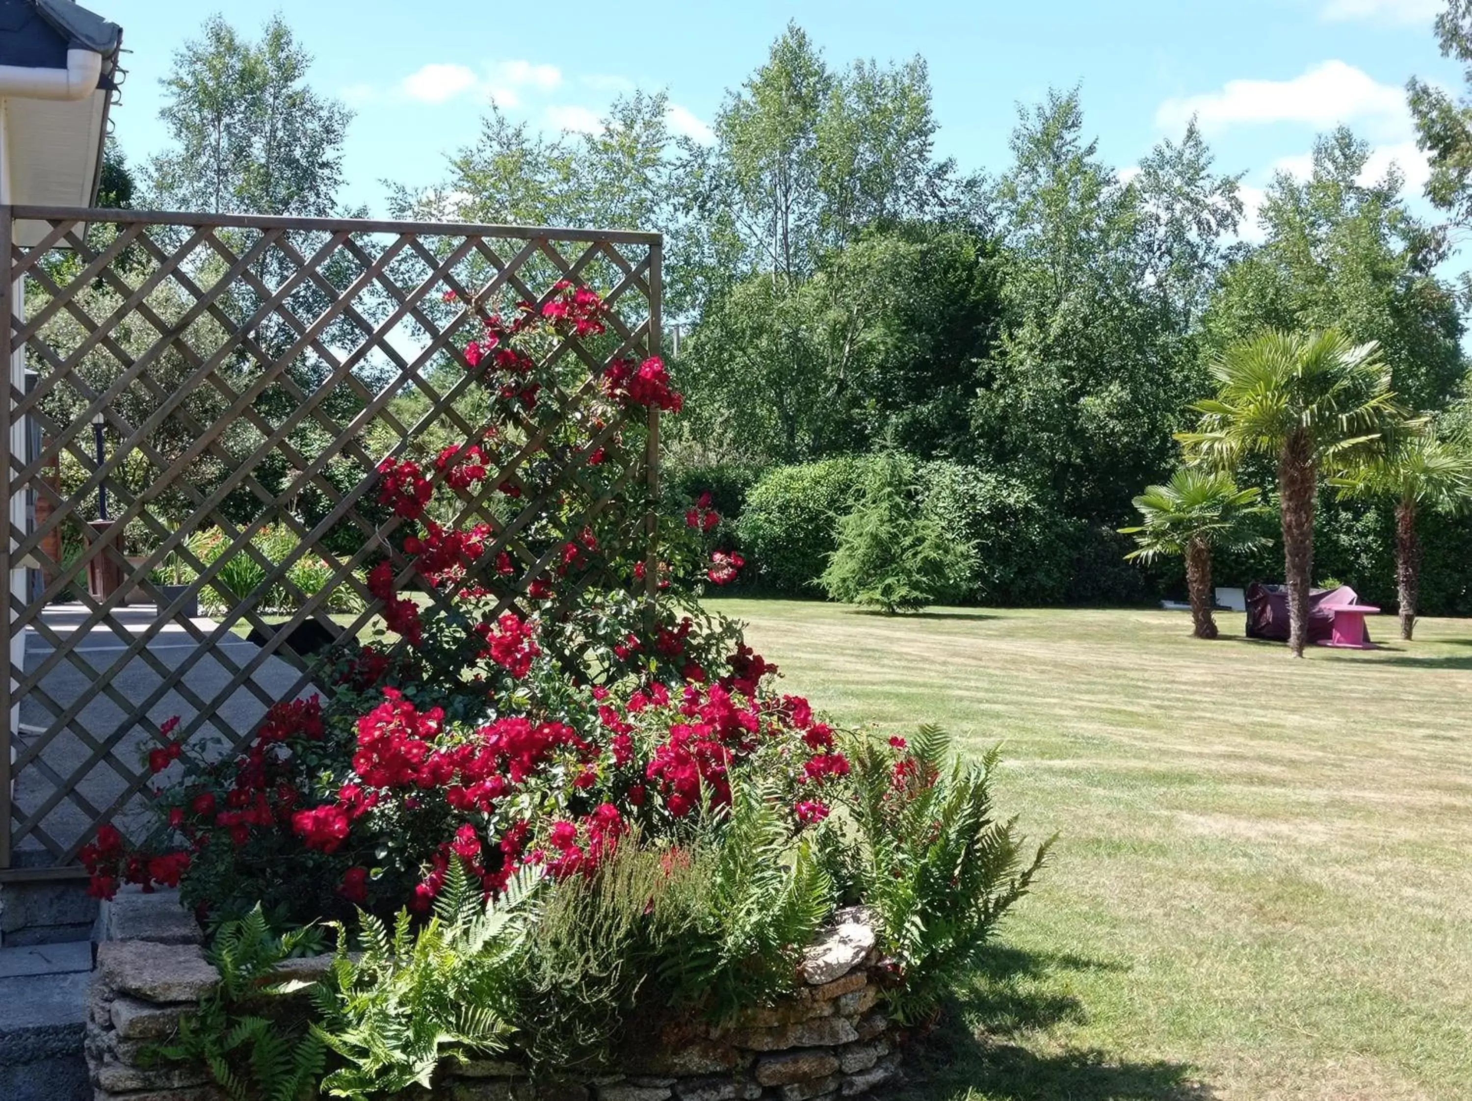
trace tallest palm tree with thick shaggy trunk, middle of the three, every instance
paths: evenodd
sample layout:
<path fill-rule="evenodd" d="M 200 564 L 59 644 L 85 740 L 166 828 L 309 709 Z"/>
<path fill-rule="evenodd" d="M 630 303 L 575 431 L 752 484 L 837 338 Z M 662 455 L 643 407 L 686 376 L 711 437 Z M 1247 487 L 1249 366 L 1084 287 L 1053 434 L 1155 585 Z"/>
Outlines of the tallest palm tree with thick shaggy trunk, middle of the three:
<path fill-rule="evenodd" d="M 1194 406 L 1201 428 L 1178 439 L 1231 470 L 1248 453 L 1278 459 L 1278 498 L 1288 581 L 1288 648 L 1303 656 L 1313 574 L 1313 503 L 1319 468 L 1351 462 L 1382 443 L 1393 424 L 1413 427 L 1390 390 L 1379 344 L 1356 344 L 1338 330 L 1267 330 L 1211 364 L 1217 396 Z"/>

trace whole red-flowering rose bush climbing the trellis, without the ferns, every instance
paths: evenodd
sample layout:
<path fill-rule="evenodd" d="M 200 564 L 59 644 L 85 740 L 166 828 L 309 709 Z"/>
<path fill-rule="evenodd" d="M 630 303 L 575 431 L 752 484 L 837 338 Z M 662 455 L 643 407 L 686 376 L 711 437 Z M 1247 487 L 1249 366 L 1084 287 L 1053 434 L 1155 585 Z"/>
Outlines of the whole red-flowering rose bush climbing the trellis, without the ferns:
<path fill-rule="evenodd" d="M 509 322 L 489 318 L 465 361 L 492 393 L 526 405 L 537 361 L 523 341 L 548 330 L 596 337 L 605 319 L 596 294 L 558 284 Z M 682 405 L 654 358 L 611 364 L 602 384 L 624 409 Z M 587 427 L 617 443 L 609 424 L 601 414 Z M 96 893 L 183 883 L 205 910 L 265 898 L 306 920 L 355 905 L 422 911 L 455 860 L 495 895 L 524 865 L 586 874 L 633 832 L 677 843 L 730 804 L 743 774 L 779 792 L 793 830 L 827 817 L 849 771 L 833 732 L 805 701 L 770 693 L 776 667 L 732 624 L 679 611 L 689 578 L 724 583 L 742 565 L 735 552 L 692 549 L 720 524 L 710 495 L 684 525 L 671 518 L 690 548 L 661 542 L 659 587 L 680 587 L 651 618 L 643 558 L 617 558 L 617 540 L 587 523 L 536 539 L 523 528 L 514 553 L 500 521 L 434 518 L 461 515 L 467 495 L 520 498 L 536 459 L 498 472 L 515 447 L 487 431 L 422 464 L 380 464 L 377 499 L 400 556 L 377 562 L 367 589 L 399 642 L 343 655 L 334 680 L 318 682 L 330 702 L 275 705 L 224 758 L 169 740 L 169 724 L 149 755 L 155 773 L 184 773 L 156 793 L 162 833 L 131 846 L 102 830 L 82 854 Z M 540 508 L 576 515 L 561 495 Z M 620 570 L 627 592 L 584 580 Z"/>

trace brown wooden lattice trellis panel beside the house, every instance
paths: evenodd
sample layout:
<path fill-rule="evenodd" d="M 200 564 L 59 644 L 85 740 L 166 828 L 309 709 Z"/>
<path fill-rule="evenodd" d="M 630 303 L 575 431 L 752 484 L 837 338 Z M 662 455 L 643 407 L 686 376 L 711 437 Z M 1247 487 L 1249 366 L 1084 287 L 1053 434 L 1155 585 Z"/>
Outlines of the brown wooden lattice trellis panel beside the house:
<path fill-rule="evenodd" d="M 37 244 L 16 244 L 21 221 L 43 227 Z M 553 565 L 549 531 L 596 524 L 655 565 L 658 414 L 609 406 L 599 380 L 609 361 L 659 346 L 658 234 L 9 208 L 0 255 L 12 318 L 0 325 L 12 364 L 0 877 L 68 874 L 97 824 L 138 805 L 141 749 L 163 739 L 163 718 L 183 715 L 174 739 L 234 746 L 314 684 L 286 645 L 294 629 L 336 612 L 356 634 L 374 620 L 365 567 L 387 555 L 412 577 L 374 493 L 386 456 L 498 434 L 500 468 L 455 490 L 445 517 L 493 521 L 465 583 L 511 555 L 498 611 Z M 559 280 L 604 296 L 606 333 L 549 344 L 530 408 L 486 399 L 464 355 L 477 321 L 542 303 Z M 626 433 L 637 446 L 609 449 Z M 592 465 L 605 449 L 623 461 Z M 100 489 L 135 546 L 84 537 Z M 85 571 L 102 556 L 124 584 L 96 601 Z M 178 590 L 162 587 L 171 568 Z M 135 595 L 149 603 L 125 606 Z M 184 615 L 202 598 L 209 618 Z M 241 640 L 247 627 L 265 642 Z"/>

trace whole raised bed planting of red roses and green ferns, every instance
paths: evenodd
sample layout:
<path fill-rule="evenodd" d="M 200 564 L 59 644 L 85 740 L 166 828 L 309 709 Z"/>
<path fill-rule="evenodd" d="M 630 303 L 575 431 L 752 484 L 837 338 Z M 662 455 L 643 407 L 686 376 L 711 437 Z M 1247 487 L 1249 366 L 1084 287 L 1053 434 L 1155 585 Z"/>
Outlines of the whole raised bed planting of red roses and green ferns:
<path fill-rule="evenodd" d="M 178 886 L 210 932 L 219 983 L 163 1058 L 237 1097 L 389 1097 L 492 1055 L 618 1101 L 664 1079 L 857 1092 L 891 1058 L 876 1022 L 924 1020 L 1041 867 L 992 814 L 994 757 L 963 762 L 929 727 L 836 729 L 701 609 L 743 565 L 711 545 L 708 499 L 654 524 L 658 559 L 642 509 L 587 503 L 612 492 L 611 449 L 642 453 L 645 412 L 680 406 L 659 361 L 614 361 L 586 422 L 527 419 L 568 381 L 546 349 L 596 340 L 601 311 L 558 284 L 489 318 L 465 362 L 500 428 L 380 467 L 397 549 L 368 584 L 389 634 L 340 649 L 330 698 L 277 705 L 237 755 L 155 746 L 159 835 L 105 827 L 84 851 L 96 893 Z M 553 464 L 534 484 L 536 462 L 506 465 L 528 449 L 581 456 L 593 483 Z M 467 520 L 520 495 L 543 502 L 530 523 Z M 813 971 L 855 905 L 863 949 Z M 305 1001 L 281 966 L 333 938 Z M 630 1077 L 649 1035 L 718 1049 L 726 1077 Z M 779 1048 L 801 1051 L 758 1054 Z"/>

